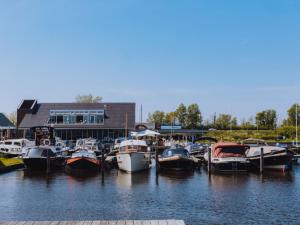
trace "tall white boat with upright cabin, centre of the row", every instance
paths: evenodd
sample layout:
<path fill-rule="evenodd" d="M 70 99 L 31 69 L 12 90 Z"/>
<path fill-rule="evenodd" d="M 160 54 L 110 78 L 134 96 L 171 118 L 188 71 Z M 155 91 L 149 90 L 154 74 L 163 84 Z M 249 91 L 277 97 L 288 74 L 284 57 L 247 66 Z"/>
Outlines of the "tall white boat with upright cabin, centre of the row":
<path fill-rule="evenodd" d="M 125 140 L 120 143 L 117 162 L 120 170 L 134 173 L 150 168 L 150 152 L 144 140 Z"/>

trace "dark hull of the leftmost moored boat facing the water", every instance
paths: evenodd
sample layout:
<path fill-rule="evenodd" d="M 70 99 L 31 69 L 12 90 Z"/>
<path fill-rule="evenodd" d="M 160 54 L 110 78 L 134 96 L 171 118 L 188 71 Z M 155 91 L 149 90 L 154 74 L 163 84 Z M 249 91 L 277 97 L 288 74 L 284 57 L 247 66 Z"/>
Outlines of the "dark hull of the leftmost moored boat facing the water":
<path fill-rule="evenodd" d="M 47 158 L 23 158 L 25 168 L 32 171 L 47 170 Z M 50 169 L 57 170 L 64 167 L 63 158 L 50 158 Z"/>

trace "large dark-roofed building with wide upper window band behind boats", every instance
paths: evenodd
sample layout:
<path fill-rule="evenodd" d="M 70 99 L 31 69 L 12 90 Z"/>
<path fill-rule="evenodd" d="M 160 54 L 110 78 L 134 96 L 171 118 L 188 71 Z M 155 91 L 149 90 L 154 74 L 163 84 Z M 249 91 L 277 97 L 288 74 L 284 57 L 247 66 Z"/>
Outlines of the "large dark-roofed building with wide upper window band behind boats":
<path fill-rule="evenodd" d="M 52 126 L 63 140 L 96 138 L 111 142 L 134 130 L 135 103 L 38 103 L 23 100 L 17 110 L 17 128 Z M 126 129 L 127 128 L 127 129 Z"/>

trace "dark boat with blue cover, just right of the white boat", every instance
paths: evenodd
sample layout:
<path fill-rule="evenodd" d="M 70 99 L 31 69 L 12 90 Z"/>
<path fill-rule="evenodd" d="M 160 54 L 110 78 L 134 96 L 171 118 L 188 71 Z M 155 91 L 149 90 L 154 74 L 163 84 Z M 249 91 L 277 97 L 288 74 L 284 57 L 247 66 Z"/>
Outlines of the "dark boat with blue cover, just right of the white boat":
<path fill-rule="evenodd" d="M 194 168 L 194 160 L 190 157 L 188 150 L 172 147 L 164 150 L 158 157 L 159 170 L 190 171 Z"/>

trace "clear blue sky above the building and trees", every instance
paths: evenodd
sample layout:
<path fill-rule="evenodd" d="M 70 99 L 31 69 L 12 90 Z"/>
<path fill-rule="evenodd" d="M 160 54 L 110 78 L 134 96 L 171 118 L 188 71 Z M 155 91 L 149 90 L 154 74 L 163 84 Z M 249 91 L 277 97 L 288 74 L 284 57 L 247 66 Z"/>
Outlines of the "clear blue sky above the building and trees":
<path fill-rule="evenodd" d="M 91 93 L 145 115 L 195 102 L 205 118 L 283 118 L 300 101 L 299 24 L 298 0 L 2 0 L 0 111 Z"/>

